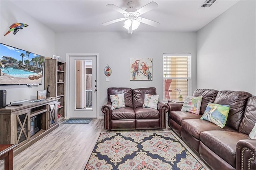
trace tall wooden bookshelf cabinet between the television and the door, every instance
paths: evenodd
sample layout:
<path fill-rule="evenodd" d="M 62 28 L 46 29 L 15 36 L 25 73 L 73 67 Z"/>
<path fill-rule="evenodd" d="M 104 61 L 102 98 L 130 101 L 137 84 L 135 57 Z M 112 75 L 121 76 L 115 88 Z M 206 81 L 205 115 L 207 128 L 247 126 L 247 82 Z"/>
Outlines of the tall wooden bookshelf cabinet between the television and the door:
<path fill-rule="evenodd" d="M 58 121 L 65 118 L 65 71 L 66 63 L 57 59 L 45 60 L 44 89 L 48 85 L 50 97 L 59 97 L 57 110 Z"/>

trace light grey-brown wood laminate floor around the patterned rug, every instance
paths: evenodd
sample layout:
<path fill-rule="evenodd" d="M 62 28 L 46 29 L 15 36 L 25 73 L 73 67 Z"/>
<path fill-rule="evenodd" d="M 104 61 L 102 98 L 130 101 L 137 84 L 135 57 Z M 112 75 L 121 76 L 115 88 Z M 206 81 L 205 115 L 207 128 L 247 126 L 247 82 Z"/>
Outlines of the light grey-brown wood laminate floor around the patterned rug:
<path fill-rule="evenodd" d="M 93 119 L 89 124 L 60 124 L 47 136 L 16 155 L 14 170 L 83 170 L 100 132 L 170 131 L 168 126 L 158 130 L 104 130 L 103 119 Z M 0 162 L 0 170 L 4 170 L 4 161 Z"/>

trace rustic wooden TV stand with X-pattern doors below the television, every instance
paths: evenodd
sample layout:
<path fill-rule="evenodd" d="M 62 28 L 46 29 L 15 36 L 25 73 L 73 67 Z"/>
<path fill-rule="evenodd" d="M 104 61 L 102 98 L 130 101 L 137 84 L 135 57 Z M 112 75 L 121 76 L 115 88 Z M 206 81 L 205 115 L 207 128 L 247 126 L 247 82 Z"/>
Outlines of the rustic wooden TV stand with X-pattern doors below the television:
<path fill-rule="evenodd" d="M 0 143 L 18 144 L 14 156 L 56 129 L 57 102 L 60 98 L 44 101 L 30 100 L 20 106 L 0 109 Z M 36 102 L 32 102 L 36 101 Z"/>

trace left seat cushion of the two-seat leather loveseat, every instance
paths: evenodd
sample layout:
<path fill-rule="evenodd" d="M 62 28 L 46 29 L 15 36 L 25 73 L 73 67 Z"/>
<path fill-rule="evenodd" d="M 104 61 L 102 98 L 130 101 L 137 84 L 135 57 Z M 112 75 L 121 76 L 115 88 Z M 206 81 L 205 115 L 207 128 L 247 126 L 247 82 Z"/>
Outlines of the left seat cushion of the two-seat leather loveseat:
<path fill-rule="evenodd" d="M 112 111 L 111 119 L 135 119 L 135 113 L 131 107 L 118 108 Z"/>

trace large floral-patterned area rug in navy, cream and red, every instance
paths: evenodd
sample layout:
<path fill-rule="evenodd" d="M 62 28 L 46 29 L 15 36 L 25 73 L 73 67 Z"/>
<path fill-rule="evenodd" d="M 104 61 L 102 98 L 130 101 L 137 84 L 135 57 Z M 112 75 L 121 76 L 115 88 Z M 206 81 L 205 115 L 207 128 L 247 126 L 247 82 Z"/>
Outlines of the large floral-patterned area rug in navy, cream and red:
<path fill-rule="evenodd" d="M 171 132 L 101 133 L 85 170 L 205 170 Z"/>

